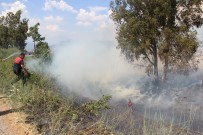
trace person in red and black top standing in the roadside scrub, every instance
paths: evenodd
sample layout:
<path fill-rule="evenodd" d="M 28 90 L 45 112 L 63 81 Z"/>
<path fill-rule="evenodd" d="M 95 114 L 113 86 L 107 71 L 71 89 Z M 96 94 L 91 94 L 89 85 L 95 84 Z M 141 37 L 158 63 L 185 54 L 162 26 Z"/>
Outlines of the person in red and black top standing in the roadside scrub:
<path fill-rule="evenodd" d="M 11 84 L 16 83 L 20 79 L 22 80 L 23 86 L 26 84 L 26 78 L 30 77 L 30 73 L 25 68 L 24 65 L 24 58 L 25 53 L 21 53 L 17 58 L 15 58 L 14 64 L 13 64 L 13 72 L 17 76 L 17 78 L 11 82 Z"/>

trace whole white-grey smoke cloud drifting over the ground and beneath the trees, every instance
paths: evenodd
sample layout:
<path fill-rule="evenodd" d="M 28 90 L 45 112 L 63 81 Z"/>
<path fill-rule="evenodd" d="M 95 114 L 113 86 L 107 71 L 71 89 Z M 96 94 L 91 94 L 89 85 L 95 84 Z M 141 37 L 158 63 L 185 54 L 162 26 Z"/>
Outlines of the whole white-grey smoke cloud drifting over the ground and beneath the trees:
<path fill-rule="evenodd" d="M 63 92 L 75 92 L 91 99 L 110 94 L 116 101 L 131 99 L 134 103 L 169 108 L 189 99 L 185 97 L 192 95 L 185 93 L 201 85 L 200 69 L 190 76 L 169 75 L 159 95 L 146 95 L 144 92 L 154 89 L 152 78 L 146 76 L 144 67 L 129 64 L 111 42 L 71 42 L 52 47 L 52 52 L 51 65 L 39 67 L 39 61 L 32 60 L 28 62 L 29 68 L 56 77 Z M 194 95 L 190 98 L 203 102 L 201 94 Z"/>

